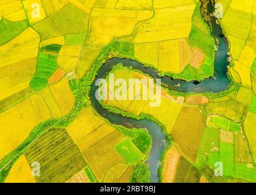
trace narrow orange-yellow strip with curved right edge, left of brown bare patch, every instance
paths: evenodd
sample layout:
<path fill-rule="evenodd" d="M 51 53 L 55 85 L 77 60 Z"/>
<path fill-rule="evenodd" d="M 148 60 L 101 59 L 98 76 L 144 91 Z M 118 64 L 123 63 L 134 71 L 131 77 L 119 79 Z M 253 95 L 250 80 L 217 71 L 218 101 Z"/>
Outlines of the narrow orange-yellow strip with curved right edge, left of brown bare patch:
<path fill-rule="evenodd" d="M 180 49 L 180 70 L 190 62 L 193 57 L 193 52 L 188 44 L 187 38 L 181 38 L 179 40 L 179 49 Z"/>

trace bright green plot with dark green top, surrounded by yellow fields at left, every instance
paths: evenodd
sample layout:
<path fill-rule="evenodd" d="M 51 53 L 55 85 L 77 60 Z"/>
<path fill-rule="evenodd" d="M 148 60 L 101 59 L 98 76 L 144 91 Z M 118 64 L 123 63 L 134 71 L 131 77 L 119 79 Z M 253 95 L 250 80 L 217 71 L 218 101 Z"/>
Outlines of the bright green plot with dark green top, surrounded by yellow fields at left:
<path fill-rule="evenodd" d="M 34 77 L 30 81 L 30 87 L 33 90 L 40 91 L 46 87 L 49 78 L 59 68 L 57 57 L 61 47 L 59 44 L 49 44 L 40 48 L 37 69 Z"/>

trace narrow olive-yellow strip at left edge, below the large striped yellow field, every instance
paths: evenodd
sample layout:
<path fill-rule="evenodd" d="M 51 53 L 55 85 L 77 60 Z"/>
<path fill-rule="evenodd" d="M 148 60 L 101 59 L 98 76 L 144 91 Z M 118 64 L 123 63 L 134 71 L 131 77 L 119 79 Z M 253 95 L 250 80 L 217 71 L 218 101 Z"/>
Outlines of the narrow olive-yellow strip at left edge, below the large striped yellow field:
<path fill-rule="evenodd" d="M 24 98 L 27 98 L 30 94 L 32 94 L 34 91 L 30 88 L 26 88 L 24 90 L 19 91 L 18 93 L 13 94 L 12 96 L 9 96 L 8 98 L 5 98 L 0 101 L 0 111 L 3 112 L 6 108 L 12 107 L 12 105 L 18 103 Z"/>

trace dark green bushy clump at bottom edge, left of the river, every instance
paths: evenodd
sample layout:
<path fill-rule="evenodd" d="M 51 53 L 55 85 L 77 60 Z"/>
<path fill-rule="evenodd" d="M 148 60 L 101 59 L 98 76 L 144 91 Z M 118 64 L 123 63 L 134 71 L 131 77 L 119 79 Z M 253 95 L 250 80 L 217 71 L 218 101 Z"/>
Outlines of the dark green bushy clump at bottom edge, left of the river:
<path fill-rule="evenodd" d="M 132 183 L 149 183 L 150 171 L 147 165 L 140 163 L 136 165 L 132 171 L 130 182 Z"/>

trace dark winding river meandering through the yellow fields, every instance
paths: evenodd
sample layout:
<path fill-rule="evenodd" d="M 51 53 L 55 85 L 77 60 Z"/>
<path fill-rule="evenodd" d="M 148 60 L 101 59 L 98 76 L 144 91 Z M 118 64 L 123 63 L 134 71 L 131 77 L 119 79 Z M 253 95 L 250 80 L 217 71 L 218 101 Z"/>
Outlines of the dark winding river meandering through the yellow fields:
<path fill-rule="evenodd" d="M 194 82 L 193 80 L 191 82 L 185 82 L 184 80 L 179 79 L 174 80 L 171 77 L 167 76 L 158 77 L 158 72 L 155 71 L 154 68 L 146 68 L 145 66 L 143 66 L 143 64 L 135 60 L 113 58 L 108 60 L 107 62 L 105 62 L 104 65 L 101 66 L 101 69 L 99 69 L 98 72 L 98 76 L 96 76 L 93 84 L 91 85 L 90 101 L 94 109 L 99 113 L 99 115 L 112 122 L 112 124 L 118 124 L 129 128 L 146 128 L 148 130 L 149 134 L 152 137 L 152 146 L 149 153 L 149 158 L 146 162 L 149 164 L 149 168 L 151 171 L 150 178 L 152 183 L 159 182 L 158 168 L 160 168 L 161 165 L 160 158 L 162 152 L 168 145 L 166 143 L 165 133 L 155 122 L 148 119 L 132 119 L 105 110 L 95 97 L 95 92 L 98 89 L 98 87 L 95 85 L 95 81 L 97 79 L 104 78 L 105 76 L 107 76 L 108 73 L 110 73 L 110 71 L 116 64 L 122 63 L 123 66 L 132 66 L 133 69 L 139 69 L 143 73 L 149 74 L 154 79 L 161 79 L 162 83 L 165 83 L 170 90 L 176 90 L 183 93 L 204 93 L 207 91 L 218 93 L 227 90 L 230 85 L 230 81 L 227 77 L 227 58 L 229 57 L 227 53 L 229 51 L 229 44 L 227 43 L 227 39 L 222 35 L 221 27 L 216 24 L 216 18 L 214 17 L 212 17 L 212 26 L 212 36 L 217 40 L 216 43 L 218 42 L 218 45 L 217 51 L 215 53 L 214 62 L 215 74 L 209 79 L 204 79 L 202 80 L 202 82 L 198 83 Z M 177 87 L 178 83 L 180 84 L 180 87 Z"/>

